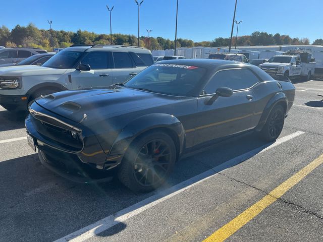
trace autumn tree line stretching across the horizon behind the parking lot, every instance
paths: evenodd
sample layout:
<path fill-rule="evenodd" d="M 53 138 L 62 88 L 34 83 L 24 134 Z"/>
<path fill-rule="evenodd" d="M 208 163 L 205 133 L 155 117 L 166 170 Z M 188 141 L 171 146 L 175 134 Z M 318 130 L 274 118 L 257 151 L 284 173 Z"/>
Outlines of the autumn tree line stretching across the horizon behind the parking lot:
<path fill-rule="evenodd" d="M 0 28 L 0 45 L 6 47 L 33 47 L 51 51 L 52 48 L 65 48 L 72 44 L 110 44 L 109 34 L 96 34 L 94 32 L 77 30 L 76 32 L 64 30 L 38 29 L 34 24 L 27 26 L 17 25 L 12 30 L 6 26 Z M 233 38 L 232 45 L 235 45 L 236 38 Z M 112 43 L 118 45 L 137 45 L 138 38 L 130 34 L 113 34 Z M 212 41 L 194 42 L 190 39 L 178 38 L 177 47 L 219 47 L 229 46 L 230 38 L 218 37 Z M 307 45 L 308 38 L 291 38 L 289 35 L 273 35 L 266 32 L 253 32 L 251 35 L 238 36 L 238 46 L 252 45 Z M 312 44 L 323 45 L 323 39 L 316 39 Z M 174 49 L 175 41 L 163 37 L 140 37 L 140 46 L 149 49 Z"/>

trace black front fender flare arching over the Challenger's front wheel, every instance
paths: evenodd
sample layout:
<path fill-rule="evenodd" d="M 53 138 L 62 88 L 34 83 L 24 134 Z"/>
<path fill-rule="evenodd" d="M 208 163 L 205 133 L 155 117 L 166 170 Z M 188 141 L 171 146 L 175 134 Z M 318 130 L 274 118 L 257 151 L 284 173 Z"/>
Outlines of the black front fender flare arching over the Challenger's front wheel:
<path fill-rule="evenodd" d="M 166 113 L 151 113 L 140 116 L 122 129 L 121 133 L 115 139 L 109 155 L 123 155 L 132 141 L 141 134 L 153 130 L 165 129 L 173 139 L 176 139 L 175 145 L 178 156 L 182 153 L 185 140 L 185 129 L 177 117 Z"/>

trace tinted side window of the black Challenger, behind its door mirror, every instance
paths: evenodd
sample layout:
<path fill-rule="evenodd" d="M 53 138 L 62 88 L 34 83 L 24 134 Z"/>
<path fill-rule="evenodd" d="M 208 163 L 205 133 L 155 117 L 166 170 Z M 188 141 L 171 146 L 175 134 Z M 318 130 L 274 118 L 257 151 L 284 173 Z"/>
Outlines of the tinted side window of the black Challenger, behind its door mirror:
<path fill-rule="evenodd" d="M 240 90 L 252 87 L 260 80 L 248 69 L 228 69 L 217 72 L 204 88 L 204 94 L 213 94 L 219 87 Z"/>

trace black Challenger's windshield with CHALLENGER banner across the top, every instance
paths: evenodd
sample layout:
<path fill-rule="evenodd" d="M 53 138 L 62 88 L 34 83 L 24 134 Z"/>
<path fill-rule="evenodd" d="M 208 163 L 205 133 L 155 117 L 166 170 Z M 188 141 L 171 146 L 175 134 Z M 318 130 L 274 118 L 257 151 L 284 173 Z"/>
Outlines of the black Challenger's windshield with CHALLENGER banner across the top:
<path fill-rule="evenodd" d="M 205 73 L 206 69 L 200 67 L 154 64 L 126 82 L 125 86 L 161 94 L 195 96 Z"/>

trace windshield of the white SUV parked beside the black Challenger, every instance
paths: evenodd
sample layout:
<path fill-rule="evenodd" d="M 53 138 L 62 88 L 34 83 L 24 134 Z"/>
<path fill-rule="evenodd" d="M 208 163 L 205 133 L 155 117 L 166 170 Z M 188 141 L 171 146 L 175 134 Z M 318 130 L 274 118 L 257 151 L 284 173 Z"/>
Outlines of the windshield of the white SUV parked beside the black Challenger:
<path fill-rule="evenodd" d="M 74 68 L 83 53 L 81 51 L 62 50 L 48 59 L 42 66 L 57 69 Z"/>

